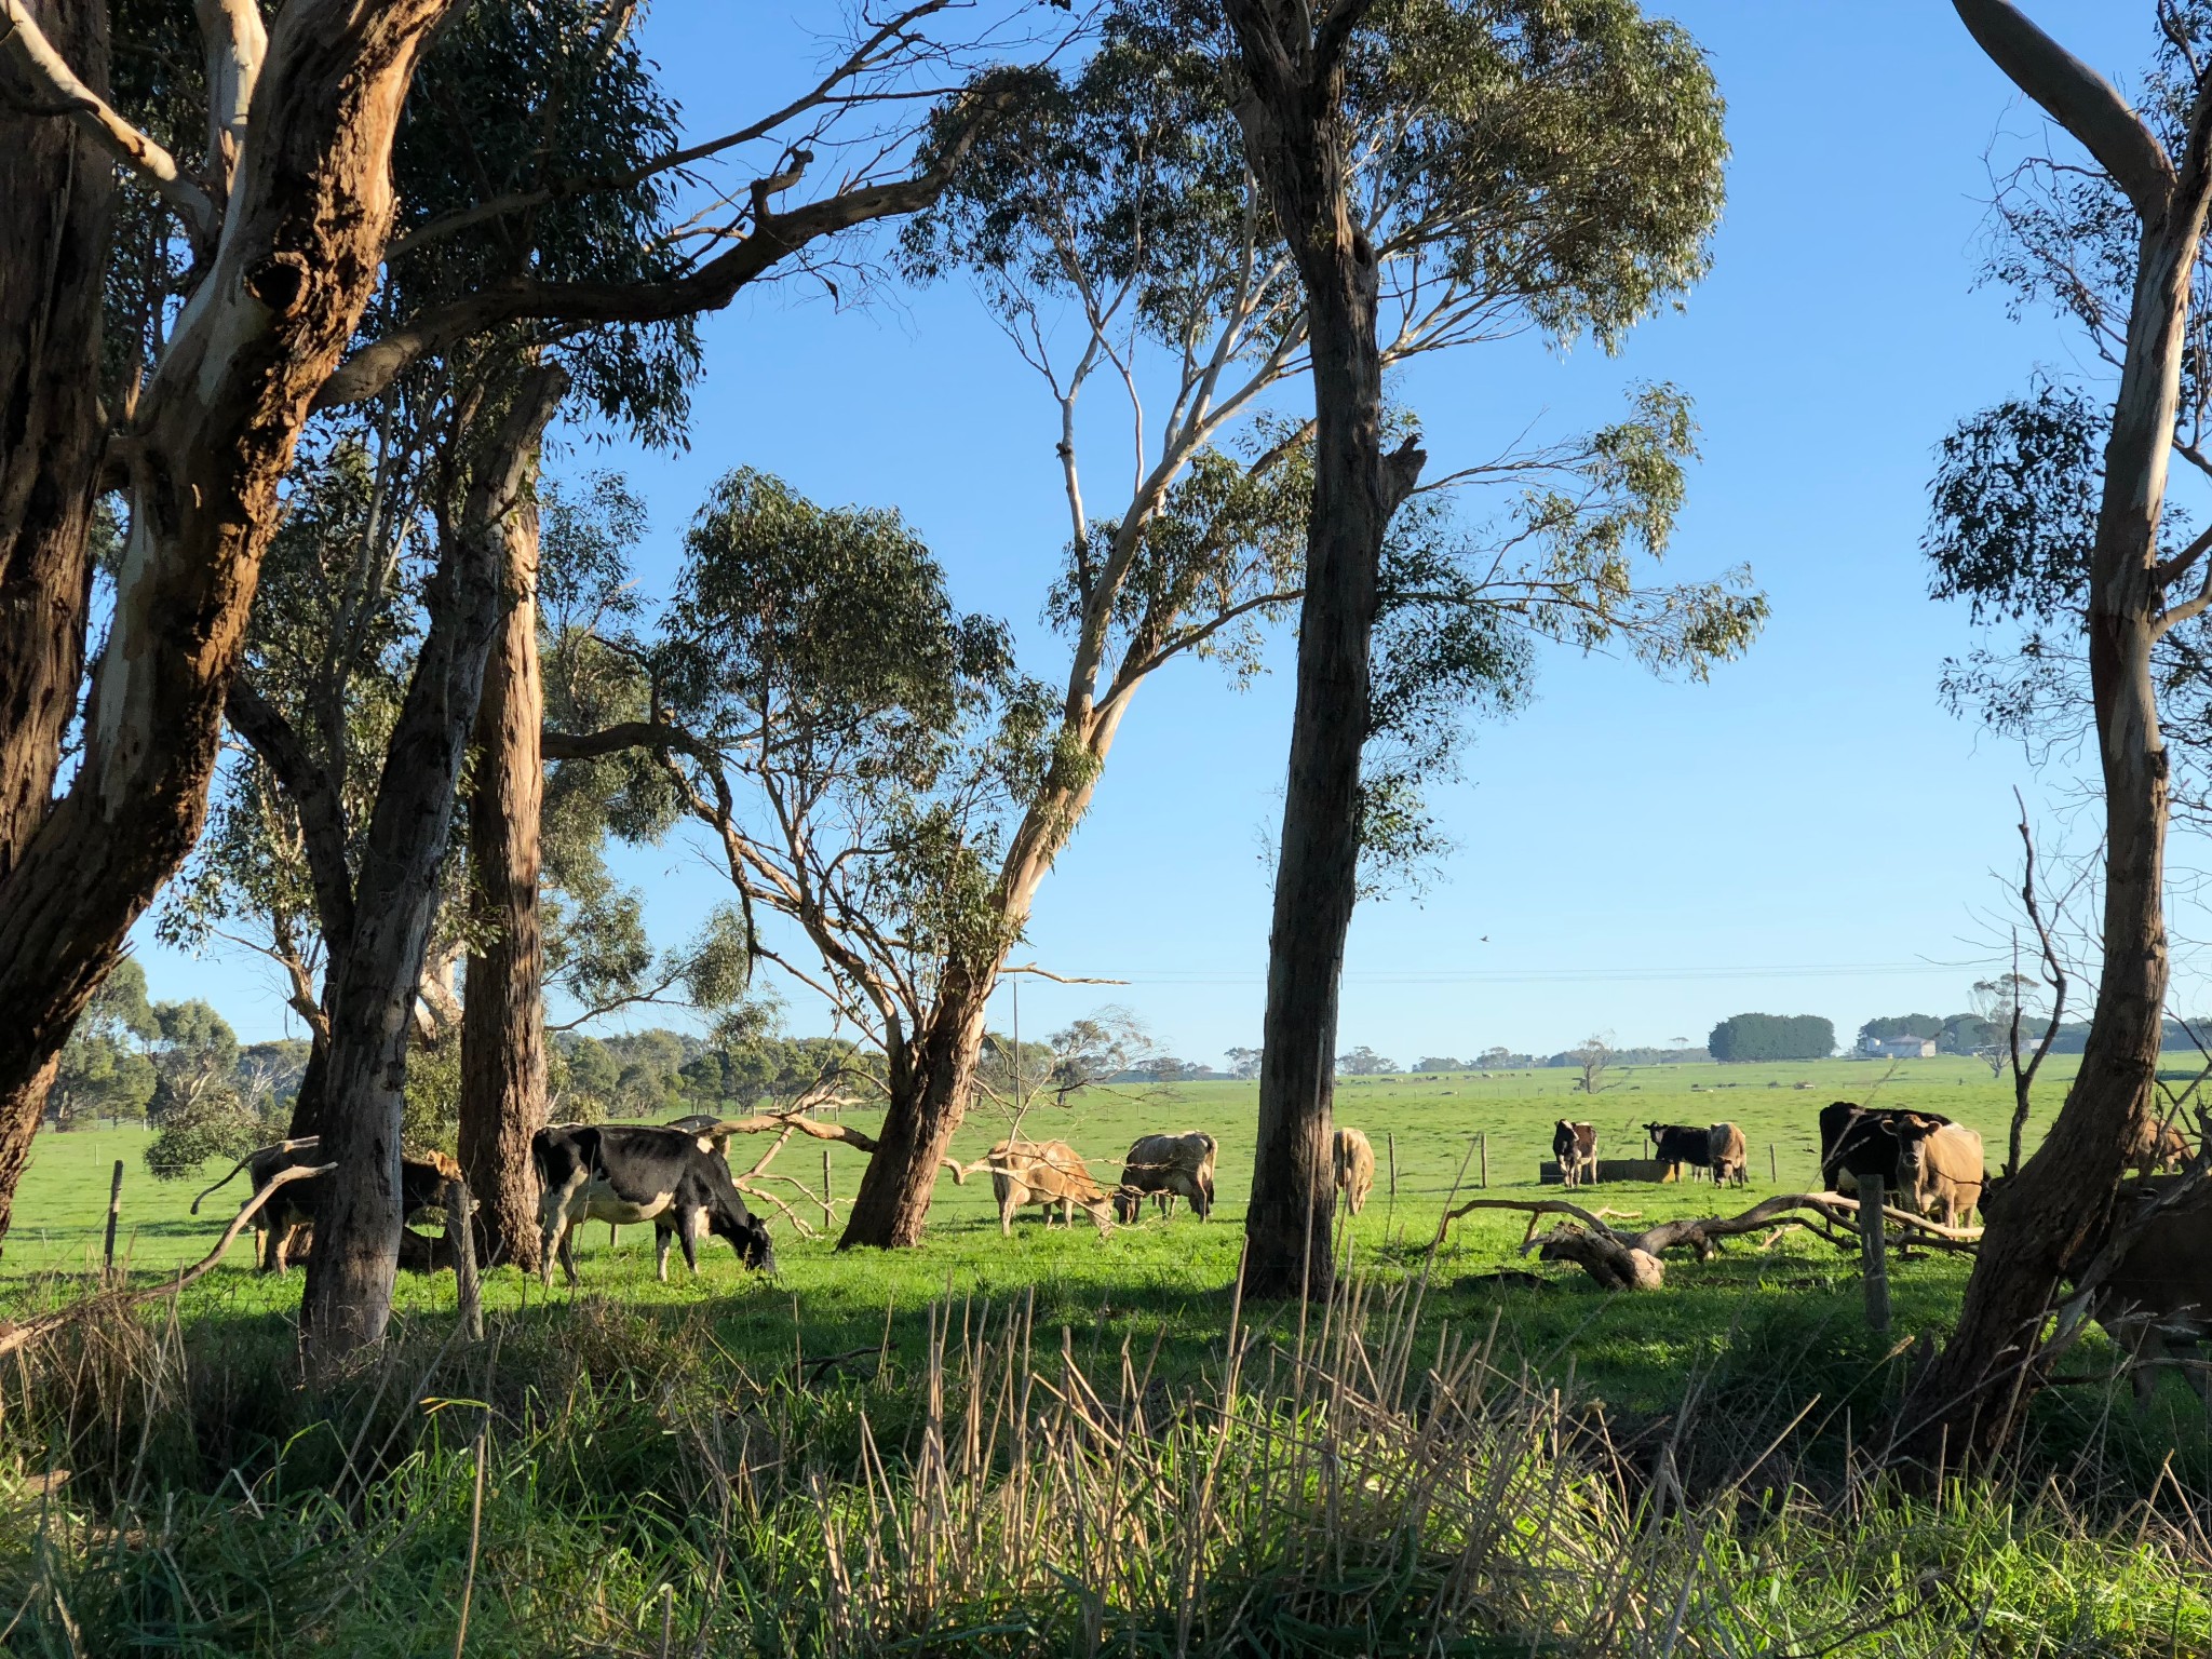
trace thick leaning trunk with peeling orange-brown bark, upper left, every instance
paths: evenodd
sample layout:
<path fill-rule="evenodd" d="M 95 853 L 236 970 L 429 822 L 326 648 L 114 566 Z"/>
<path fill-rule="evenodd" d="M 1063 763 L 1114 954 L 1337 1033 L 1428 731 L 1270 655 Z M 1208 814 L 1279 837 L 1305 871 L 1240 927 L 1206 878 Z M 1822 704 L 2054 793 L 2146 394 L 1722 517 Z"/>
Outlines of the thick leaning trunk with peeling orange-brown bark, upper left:
<path fill-rule="evenodd" d="M 276 491 L 376 285 L 392 133 L 449 4 L 279 13 L 208 274 L 122 438 L 131 533 L 84 757 L 0 880 L 0 1234 L 69 1029 L 206 821 Z"/>

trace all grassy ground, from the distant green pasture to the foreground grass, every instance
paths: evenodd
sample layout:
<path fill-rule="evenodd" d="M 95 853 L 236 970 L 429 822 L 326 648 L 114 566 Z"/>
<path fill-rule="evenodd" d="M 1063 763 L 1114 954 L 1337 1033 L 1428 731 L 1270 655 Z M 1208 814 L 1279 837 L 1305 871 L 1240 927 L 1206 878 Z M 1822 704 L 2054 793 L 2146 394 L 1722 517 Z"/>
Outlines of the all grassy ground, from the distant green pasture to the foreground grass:
<path fill-rule="evenodd" d="M 2066 1075 L 2053 1068 L 2037 1119 Z M 24 1405 L 0 1407 L 0 1619 L 29 1610 L 15 1641 L 42 1646 L 27 1652 L 451 1652 L 480 1531 L 471 1652 L 1177 1652 L 1177 1621 L 1194 1617 L 1190 1652 L 1411 1655 L 1429 1650 L 1444 1608 L 1451 1628 L 1511 1632 L 1449 1648 L 1469 1655 L 2212 1652 L 2212 1559 L 2190 1531 L 2212 1517 L 2212 1449 L 2179 1383 L 2150 1416 L 2095 1383 L 2053 1389 L 2024 1473 L 1995 1484 L 1913 1495 L 1854 1473 L 1867 1425 L 1902 1387 L 1898 1345 L 1955 1310 L 1955 1259 L 1896 1265 L 1885 1343 L 1863 1327 L 1856 1261 L 1805 1237 L 1672 1261 L 1657 1296 L 1522 1261 L 1515 1214 L 1478 1212 L 1429 1256 L 1462 1168 L 1462 1190 L 1478 1179 L 1473 1135 L 1489 1137 L 1491 1194 L 1515 1197 L 1540 1190 L 1562 1115 L 1593 1117 L 1613 1155 L 1637 1155 L 1646 1119 L 1730 1119 L 1752 1150 L 1747 1192 L 1593 1194 L 1652 1219 L 1725 1212 L 1776 1190 L 1770 1144 L 1781 1188 L 1814 1183 L 1827 1099 L 1942 1110 L 1980 1128 L 1995 1161 L 2011 1097 L 1986 1068 L 1639 1068 L 1595 1099 L 1568 1084 L 1559 1071 L 1340 1084 L 1338 1121 L 1365 1128 L 1378 1157 L 1396 1144 L 1398 1192 L 1378 1172 L 1347 1228 L 1367 1301 L 1334 1323 L 1325 1363 L 1298 1360 L 1321 1352 L 1318 1325 L 1301 1334 L 1296 1310 L 1234 1310 L 1225 1290 L 1250 1181 L 1250 1084 L 1095 1091 L 1037 1104 L 1026 1121 L 1073 1141 L 1104 1179 L 1139 1130 L 1212 1130 L 1212 1225 L 1148 1217 L 1099 1239 L 1031 1214 L 1006 1241 L 987 1181 L 942 1181 L 922 1250 L 841 1256 L 779 1219 L 774 1281 L 714 1243 L 697 1279 L 679 1261 L 666 1287 L 648 1228 L 608 1248 L 595 1225 L 582 1292 L 489 1274 L 489 1354 L 449 1345 L 449 1279 L 403 1276 L 392 1352 L 332 1391 L 296 1380 L 299 1276 L 257 1276 L 241 1250 L 186 1292 L 175 1327 L 148 1318 L 58 1345 L 38 1380 L 11 1389 Z M 1002 1133 L 982 1113 L 958 1150 L 978 1157 Z M 115 1157 L 128 1164 L 135 1276 L 150 1283 L 204 1252 L 237 1188 L 192 1219 L 199 1181 L 155 1183 L 142 1146 L 137 1130 L 40 1144 L 0 1312 L 82 1292 Z M 818 1183 L 818 1146 L 783 1159 Z M 832 1152 L 838 1194 L 858 1170 Z M 1533 1283 L 1498 1276 L 1511 1270 L 1533 1270 Z M 1110 1464 L 1053 1438 L 1075 1411 L 1055 1394 L 1071 1374 L 1091 1380 L 1108 1422 L 1130 1400 L 1152 1422 L 1197 1422 L 1190 1402 L 1225 1387 L 1232 1321 L 1248 1405 L 1217 1438 L 1177 1429 Z M 1394 1385 L 1398 1334 L 1407 1383 Z M 1398 1413 L 1433 1409 L 1440 1378 L 1475 1352 L 1482 1409 L 1438 1418 L 1449 1455 L 1409 1464 Z M 2106 1358 L 2093 1338 L 2068 1369 L 2095 1376 Z M 1031 1374 L 1037 1394 L 1018 1409 L 1018 1376 Z M 982 1425 L 967 1440 L 962 1413 Z M 1314 1413 L 1334 1427 L 1323 1433 Z M 1000 1436 L 1024 1422 L 1055 1447 L 1029 1453 L 1051 1482 L 1024 1484 L 1009 1460 Z M 1323 1442 L 1360 1471 L 1338 1498 L 1338 1464 L 1314 1460 Z M 387 1447 L 376 1478 L 349 1486 L 374 1444 Z M 1584 1469 L 1582 1451 L 1599 1444 L 1590 1467 L 1630 1471 L 1630 1484 Z M 77 1506 L 11 1506 L 9 1458 L 77 1469 Z M 732 1460 L 745 1473 L 712 1475 Z M 1661 1464 L 1683 1491 L 1672 1515 L 1646 1509 L 1635 1484 L 1632 1471 Z M 1214 1522 L 1188 1506 L 1206 1467 L 1219 1471 Z M 1480 1498 L 1425 1484 L 1444 1469 Z M 1582 1495 L 1562 1506 L 1562 1491 Z M 1084 1544 L 1115 1493 L 1130 1493 L 1130 1513 Z M 1033 1515 L 1029 1533 L 1011 1528 L 1015 1513 Z M 1013 1533 L 1048 1540 L 1051 1559 L 1022 1564 Z M 1210 1559 L 1212 1577 L 1175 1593 L 1164 1575 L 1183 1551 Z M 845 1590 L 841 1559 L 867 1564 Z M 1186 1610 L 1166 1613 L 1179 1597 Z"/>

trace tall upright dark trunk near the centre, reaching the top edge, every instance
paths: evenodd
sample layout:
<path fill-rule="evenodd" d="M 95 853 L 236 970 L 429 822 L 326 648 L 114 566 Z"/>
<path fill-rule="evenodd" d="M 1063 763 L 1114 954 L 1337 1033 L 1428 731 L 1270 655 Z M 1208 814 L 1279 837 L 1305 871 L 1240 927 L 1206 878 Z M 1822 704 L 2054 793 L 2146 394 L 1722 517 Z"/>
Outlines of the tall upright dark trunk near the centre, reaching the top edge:
<path fill-rule="evenodd" d="M 1314 363 L 1314 507 L 1298 611 L 1298 701 L 1267 938 L 1267 1020 L 1245 1217 L 1245 1294 L 1325 1298 L 1334 1168 L 1336 993 L 1358 896 L 1360 748 L 1383 533 L 1420 451 L 1383 453 L 1378 268 L 1352 221 L 1343 51 L 1360 0 L 1318 33 L 1263 0 L 1228 0 L 1248 80 L 1245 159 L 1298 263 Z"/>

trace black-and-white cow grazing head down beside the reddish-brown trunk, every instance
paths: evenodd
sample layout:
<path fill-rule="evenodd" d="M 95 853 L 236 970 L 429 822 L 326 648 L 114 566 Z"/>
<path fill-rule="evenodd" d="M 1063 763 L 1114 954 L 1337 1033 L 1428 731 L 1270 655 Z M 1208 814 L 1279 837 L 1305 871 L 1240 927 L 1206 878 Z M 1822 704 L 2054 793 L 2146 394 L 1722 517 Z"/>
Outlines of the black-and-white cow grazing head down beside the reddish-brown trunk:
<path fill-rule="evenodd" d="M 668 1245 L 699 1272 L 699 1234 L 728 1239 L 737 1259 L 776 1270 L 768 1225 L 745 1208 L 712 1133 L 666 1124 L 560 1124 L 531 1137 L 538 1170 L 540 1276 L 553 1283 L 560 1256 L 577 1283 L 571 1228 L 580 1221 L 653 1223 L 655 1267 L 668 1283 Z"/>

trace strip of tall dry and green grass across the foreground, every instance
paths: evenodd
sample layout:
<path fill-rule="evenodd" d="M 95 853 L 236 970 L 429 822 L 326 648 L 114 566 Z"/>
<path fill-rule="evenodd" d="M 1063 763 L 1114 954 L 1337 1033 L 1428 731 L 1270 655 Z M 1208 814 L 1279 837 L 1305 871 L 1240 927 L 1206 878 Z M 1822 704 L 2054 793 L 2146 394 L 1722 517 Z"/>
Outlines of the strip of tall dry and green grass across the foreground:
<path fill-rule="evenodd" d="M 1854 1453 L 1809 1489 L 1805 1413 L 1683 1413 L 1630 1451 L 1495 1321 L 1436 1329 L 1422 1285 L 1239 1310 L 1175 1385 L 1157 1349 L 1082 1358 L 1029 1296 L 938 1303 L 911 1367 L 794 1354 L 737 1389 L 701 1327 L 611 1303 L 482 1347 L 422 1332 L 325 1396 L 210 1391 L 175 1321 L 93 1329 L 7 1389 L 0 1646 L 2212 1652 L 2208 1509 L 2179 1484 L 1911 1495 Z M 241 1409 L 268 1444 L 217 1473 Z"/>

